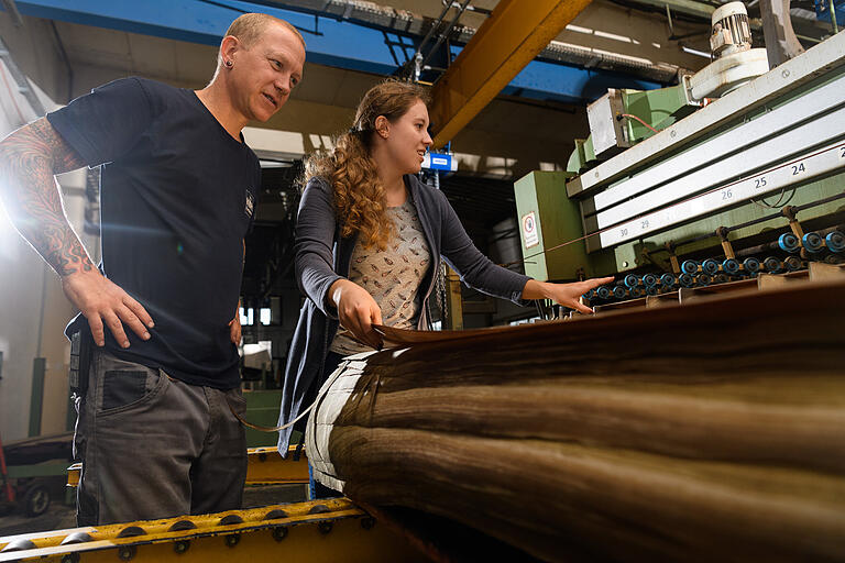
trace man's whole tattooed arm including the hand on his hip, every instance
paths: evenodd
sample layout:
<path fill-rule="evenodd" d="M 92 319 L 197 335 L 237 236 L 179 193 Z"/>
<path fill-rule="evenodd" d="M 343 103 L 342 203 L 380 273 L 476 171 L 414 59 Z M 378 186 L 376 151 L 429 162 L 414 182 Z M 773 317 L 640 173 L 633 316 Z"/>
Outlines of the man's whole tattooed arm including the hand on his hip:
<path fill-rule="evenodd" d="M 147 340 L 145 325 L 152 328 L 153 320 L 91 264 L 65 217 L 54 175 L 83 166 L 77 152 L 42 118 L 0 142 L 0 198 L 18 231 L 62 278 L 62 289 L 88 319 L 95 342 L 105 344 L 105 323 L 128 347 L 123 323 Z"/>

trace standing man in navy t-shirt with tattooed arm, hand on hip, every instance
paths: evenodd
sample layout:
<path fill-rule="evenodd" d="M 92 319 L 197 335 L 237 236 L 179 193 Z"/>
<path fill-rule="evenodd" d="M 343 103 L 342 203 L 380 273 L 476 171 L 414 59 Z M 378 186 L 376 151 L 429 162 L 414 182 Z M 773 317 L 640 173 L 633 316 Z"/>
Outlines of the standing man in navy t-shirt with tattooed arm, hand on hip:
<path fill-rule="evenodd" d="M 300 80 L 305 42 L 244 14 L 202 90 L 128 78 L 0 143 L 0 192 L 92 340 L 74 446 L 79 526 L 240 508 L 246 471 L 237 342 L 243 238 L 261 169 L 243 143 Z M 102 274 L 54 175 L 102 164 Z"/>

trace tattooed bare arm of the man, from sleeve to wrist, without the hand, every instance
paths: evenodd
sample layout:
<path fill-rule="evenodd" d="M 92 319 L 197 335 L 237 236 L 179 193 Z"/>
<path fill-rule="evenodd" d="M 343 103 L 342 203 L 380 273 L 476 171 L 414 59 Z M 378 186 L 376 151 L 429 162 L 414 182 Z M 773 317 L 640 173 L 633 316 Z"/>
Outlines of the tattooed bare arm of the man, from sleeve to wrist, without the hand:
<path fill-rule="evenodd" d="M 91 271 L 79 238 L 68 223 L 55 175 L 85 162 L 46 118 L 0 143 L 0 196 L 18 231 L 59 276 Z"/>

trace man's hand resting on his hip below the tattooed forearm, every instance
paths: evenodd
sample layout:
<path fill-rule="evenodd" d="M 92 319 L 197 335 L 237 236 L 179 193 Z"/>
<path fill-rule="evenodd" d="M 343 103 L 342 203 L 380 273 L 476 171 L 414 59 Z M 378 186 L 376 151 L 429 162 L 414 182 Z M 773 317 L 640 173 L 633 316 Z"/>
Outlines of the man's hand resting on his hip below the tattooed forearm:
<path fill-rule="evenodd" d="M 106 327 L 122 347 L 129 347 L 123 324 L 141 339 L 150 339 L 147 328 L 153 328 L 150 313 L 99 271 L 77 271 L 62 276 L 62 290 L 88 319 L 91 335 L 98 346 L 106 344 Z"/>

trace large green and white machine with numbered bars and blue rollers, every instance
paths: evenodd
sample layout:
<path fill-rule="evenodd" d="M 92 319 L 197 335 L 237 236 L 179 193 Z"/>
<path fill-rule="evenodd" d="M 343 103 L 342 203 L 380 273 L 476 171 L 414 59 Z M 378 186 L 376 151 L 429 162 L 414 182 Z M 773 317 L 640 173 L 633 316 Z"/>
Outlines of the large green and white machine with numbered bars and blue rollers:
<path fill-rule="evenodd" d="M 768 70 L 742 3 L 724 8 L 723 56 L 672 88 L 608 91 L 566 173 L 515 183 L 528 275 L 636 274 L 630 298 L 845 257 L 845 34 Z"/>

